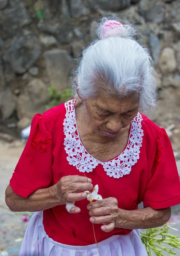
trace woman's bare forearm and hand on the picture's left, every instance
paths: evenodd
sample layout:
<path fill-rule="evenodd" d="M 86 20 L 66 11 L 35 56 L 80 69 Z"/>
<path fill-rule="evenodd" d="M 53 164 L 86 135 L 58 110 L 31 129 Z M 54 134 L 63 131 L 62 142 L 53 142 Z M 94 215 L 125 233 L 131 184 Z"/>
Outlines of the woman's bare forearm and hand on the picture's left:
<path fill-rule="evenodd" d="M 46 189 L 37 189 L 28 198 L 23 198 L 13 192 L 9 185 L 6 189 L 6 204 L 13 212 L 37 212 L 66 204 L 68 201 L 80 201 L 86 198 L 86 190 L 91 190 L 92 180 L 78 175 L 62 177 L 60 181 Z M 79 192 L 79 193 L 78 193 Z M 71 213 L 80 212 L 80 208 L 72 207 Z"/>

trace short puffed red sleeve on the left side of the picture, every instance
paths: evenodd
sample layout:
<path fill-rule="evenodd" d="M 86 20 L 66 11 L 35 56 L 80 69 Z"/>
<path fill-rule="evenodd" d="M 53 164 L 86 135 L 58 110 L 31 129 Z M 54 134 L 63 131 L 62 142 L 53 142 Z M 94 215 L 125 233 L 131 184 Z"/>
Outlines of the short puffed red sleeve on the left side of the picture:
<path fill-rule="evenodd" d="M 46 188 L 52 180 L 52 138 L 37 114 L 20 160 L 10 180 L 14 193 L 27 198 L 37 189 Z"/>

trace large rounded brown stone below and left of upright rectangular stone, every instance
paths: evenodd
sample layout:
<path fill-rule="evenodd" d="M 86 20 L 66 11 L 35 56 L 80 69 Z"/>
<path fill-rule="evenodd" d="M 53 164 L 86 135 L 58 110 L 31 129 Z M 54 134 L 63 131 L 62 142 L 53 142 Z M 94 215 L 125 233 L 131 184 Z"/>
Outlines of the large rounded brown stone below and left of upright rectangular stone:
<path fill-rule="evenodd" d="M 17 99 L 17 116 L 19 119 L 27 117 L 32 119 L 36 113 L 46 111 L 49 102 L 49 91 L 40 79 L 30 81 L 23 94 Z"/>

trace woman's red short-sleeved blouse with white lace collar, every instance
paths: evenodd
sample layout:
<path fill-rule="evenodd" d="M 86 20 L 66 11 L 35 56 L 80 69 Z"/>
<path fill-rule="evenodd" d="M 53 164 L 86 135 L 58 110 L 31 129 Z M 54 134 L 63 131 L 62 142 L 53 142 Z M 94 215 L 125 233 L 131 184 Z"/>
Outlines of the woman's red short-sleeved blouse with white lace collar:
<path fill-rule="evenodd" d="M 112 148 L 113 150 L 113 148 Z M 37 189 L 47 188 L 66 175 L 82 175 L 99 185 L 103 198 L 114 197 L 118 207 L 162 209 L 180 204 L 180 180 L 171 147 L 163 128 L 138 113 L 131 122 L 129 141 L 123 153 L 106 162 L 92 157 L 80 141 L 74 100 L 34 116 L 26 147 L 15 168 L 10 185 L 14 193 L 27 198 Z M 43 225 L 49 237 L 63 244 L 94 244 L 89 201 L 76 202 L 79 214 L 65 205 L 43 211 Z M 131 230 L 115 228 L 110 233 L 94 224 L 97 241 Z"/>

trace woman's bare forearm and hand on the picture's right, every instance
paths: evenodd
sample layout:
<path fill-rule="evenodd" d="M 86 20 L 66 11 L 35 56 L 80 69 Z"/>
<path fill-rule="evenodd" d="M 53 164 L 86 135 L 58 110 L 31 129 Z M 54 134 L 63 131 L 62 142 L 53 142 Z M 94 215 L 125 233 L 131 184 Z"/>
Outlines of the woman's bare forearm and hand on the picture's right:
<path fill-rule="evenodd" d="M 90 203 L 90 221 L 94 224 L 104 224 L 101 229 L 105 232 L 112 231 L 115 227 L 125 229 L 147 229 L 160 227 L 169 221 L 171 208 L 152 209 L 151 207 L 124 210 L 118 208 L 116 198 L 105 198 L 102 201 Z"/>

